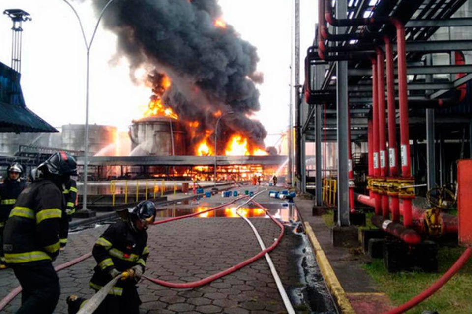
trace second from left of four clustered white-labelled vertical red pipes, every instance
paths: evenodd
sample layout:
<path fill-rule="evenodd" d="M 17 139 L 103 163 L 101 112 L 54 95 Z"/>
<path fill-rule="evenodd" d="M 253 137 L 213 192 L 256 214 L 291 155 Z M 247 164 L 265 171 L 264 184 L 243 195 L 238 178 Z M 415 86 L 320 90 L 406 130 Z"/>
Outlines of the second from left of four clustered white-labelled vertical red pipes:
<path fill-rule="evenodd" d="M 377 52 L 377 97 L 378 102 L 378 113 L 379 113 L 379 162 L 380 162 L 380 177 L 382 178 L 384 185 L 386 184 L 388 168 L 387 168 L 387 157 L 386 157 L 386 125 L 385 125 L 385 62 L 383 51 L 380 48 L 376 49 Z M 383 189 L 385 190 L 385 189 Z M 388 195 L 386 191 L 381 194 L 381 209 L 384 218 L 389 218 L 388 213 Z"/>

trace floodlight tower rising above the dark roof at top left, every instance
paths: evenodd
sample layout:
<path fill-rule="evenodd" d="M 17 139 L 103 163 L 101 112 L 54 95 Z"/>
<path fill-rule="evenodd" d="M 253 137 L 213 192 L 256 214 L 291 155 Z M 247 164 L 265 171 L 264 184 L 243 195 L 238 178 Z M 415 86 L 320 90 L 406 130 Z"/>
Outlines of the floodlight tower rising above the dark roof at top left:
<path fill-rule="evenodd" d="M 12 36 L 11 36 L 11 68 L 16 72 L 21 72 L 21 34 L 23 22 L 31 21 L 31 16 L 28 12 L 21 9 L 8 9 L 3 11 L 3 14 L 13 21 Z"/>

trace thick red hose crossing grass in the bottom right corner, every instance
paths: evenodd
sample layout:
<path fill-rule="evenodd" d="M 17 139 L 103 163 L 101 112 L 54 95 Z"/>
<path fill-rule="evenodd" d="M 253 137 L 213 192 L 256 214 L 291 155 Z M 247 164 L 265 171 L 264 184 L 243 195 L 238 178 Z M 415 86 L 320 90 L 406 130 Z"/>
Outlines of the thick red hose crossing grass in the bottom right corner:
<path fill-rule="evenodd" d="M 449 279 L 454 276 L 459 269 L 464 266 L 464 264 L 469 260 L 472 255 L 472 248 L 467 248 L 464 253 L 457 259 L 457 261 L 449 268 L 444 275 L 440 279 L 438 279 L 434 284 L 432 284 L 429 288 L 418 294 L 417 296 L 410 299 L 408 302 L 392 309 L 390 311 L 385 312 L 384 314 L 400 314 L 404 313 L 407 310 L 413 308 L 415 305 L 419 304 L 420 302 L 424 301 L 428 297 L 430 297 L 433 293 L 438 291 L 442 286 L 444 286 Z"/>

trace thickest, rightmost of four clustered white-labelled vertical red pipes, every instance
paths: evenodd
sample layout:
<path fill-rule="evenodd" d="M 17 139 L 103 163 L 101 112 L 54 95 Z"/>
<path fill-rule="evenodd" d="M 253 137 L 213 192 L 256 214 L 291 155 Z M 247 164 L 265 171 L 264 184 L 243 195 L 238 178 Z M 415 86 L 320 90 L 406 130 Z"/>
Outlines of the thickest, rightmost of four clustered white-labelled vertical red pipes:
<path fill-rule="evenodd" d="M 392 19 L 397 30 L 397 67 L 398 67 L 398 96 L 400 107 L 400 154 L 402 178 L 411 178 L 410 135 L 408 130 L 408 90 L 407 90 L 407 62 L 405 51 L 405 27 Z M 412 200 L 403 198 L 403 225 L 412 226 Z"/>

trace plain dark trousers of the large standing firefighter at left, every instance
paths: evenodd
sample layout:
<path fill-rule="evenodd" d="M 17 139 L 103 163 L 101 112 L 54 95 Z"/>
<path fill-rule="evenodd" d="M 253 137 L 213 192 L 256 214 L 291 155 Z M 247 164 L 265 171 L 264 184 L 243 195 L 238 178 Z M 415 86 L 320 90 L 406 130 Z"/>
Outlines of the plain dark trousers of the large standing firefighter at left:
<path fill-rule="evenodd" d="M 59 278 L 50 261 L 11 264 L 22 290 L 16 314 L 51 314 L 58 304 Z"/>

